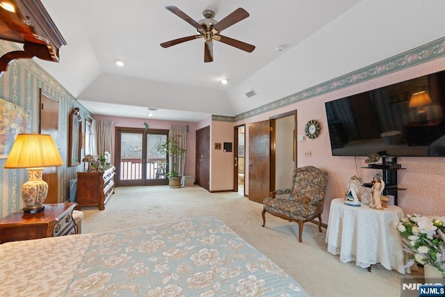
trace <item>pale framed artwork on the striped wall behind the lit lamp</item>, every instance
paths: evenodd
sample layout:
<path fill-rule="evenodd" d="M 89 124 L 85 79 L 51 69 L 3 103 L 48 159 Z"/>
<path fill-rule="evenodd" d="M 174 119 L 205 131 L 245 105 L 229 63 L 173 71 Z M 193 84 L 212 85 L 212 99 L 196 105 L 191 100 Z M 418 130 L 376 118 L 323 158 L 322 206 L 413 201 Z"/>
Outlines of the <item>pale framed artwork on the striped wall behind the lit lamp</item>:
<path fill-rule="evenodd" d="M 18 134 L 31 133 L 31 113 L 0 99 L 0 159 L 6 159 Z"/>

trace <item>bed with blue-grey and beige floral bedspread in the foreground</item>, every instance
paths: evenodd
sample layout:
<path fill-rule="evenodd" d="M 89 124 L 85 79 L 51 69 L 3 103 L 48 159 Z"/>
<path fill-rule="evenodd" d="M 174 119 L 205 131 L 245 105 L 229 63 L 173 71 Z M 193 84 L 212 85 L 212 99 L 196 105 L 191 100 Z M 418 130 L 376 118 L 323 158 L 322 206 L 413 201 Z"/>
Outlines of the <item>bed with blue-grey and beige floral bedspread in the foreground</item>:
<path fill-rule="evenodd" d="M 309 296 L 212 217 L 3 243 L 0 259 L 3 296 Z"/>

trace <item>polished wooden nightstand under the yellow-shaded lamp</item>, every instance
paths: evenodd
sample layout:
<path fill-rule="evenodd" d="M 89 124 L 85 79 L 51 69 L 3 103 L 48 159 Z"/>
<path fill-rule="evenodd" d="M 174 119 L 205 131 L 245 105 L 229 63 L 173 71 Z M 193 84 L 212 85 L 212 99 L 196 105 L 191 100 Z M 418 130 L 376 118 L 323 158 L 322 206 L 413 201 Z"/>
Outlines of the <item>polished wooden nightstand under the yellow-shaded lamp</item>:
<path fill-rule="evenodd" d="M 44 204 L 38 214 L 13 212 L 0 220 L 0 243 L 77 234 L 72 211 L 77 203 Z"/>

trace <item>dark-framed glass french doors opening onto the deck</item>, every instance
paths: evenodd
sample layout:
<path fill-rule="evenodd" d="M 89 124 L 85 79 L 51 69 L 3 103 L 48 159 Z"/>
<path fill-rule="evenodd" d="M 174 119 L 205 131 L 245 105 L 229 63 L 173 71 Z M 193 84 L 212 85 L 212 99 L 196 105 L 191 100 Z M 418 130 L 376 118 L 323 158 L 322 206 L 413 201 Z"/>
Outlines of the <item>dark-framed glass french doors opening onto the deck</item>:
<path fill-rule="evenodd" d="M 115 167 L 117 186 L 168 184 L 167 153 L 156 147 L 165 143 L 168 130 L 116 128 Z"/>

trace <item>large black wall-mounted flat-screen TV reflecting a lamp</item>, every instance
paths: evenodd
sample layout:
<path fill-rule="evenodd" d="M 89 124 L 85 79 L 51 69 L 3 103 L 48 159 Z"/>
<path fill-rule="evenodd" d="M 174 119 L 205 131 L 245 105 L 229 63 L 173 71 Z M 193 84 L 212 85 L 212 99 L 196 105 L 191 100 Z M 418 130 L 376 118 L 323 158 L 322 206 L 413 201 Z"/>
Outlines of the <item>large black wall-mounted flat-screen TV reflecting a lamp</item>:
<path fill-rule="evenodd" d="M 445 156 L 445 71 L 325 103 L 333 156 Z"/>

